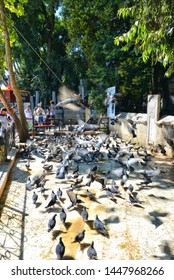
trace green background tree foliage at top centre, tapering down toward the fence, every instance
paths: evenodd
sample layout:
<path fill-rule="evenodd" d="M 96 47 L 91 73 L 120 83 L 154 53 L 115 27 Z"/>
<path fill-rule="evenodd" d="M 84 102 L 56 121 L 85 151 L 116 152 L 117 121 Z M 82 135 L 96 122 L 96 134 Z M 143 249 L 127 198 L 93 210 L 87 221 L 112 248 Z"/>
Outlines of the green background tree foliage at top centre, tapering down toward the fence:
<path fill-rule="evenodd" d="M 100 113 L 106 111 L 106 88 L 117 83 L 123 54 L 115 48 L 114 37 L 128 25 L 116 16 L 119 2 L 63 0 L 63 23 L 70 38 L 67 54 L 80 67 L 80 77 L 88 81 L 89 101 Z"/>

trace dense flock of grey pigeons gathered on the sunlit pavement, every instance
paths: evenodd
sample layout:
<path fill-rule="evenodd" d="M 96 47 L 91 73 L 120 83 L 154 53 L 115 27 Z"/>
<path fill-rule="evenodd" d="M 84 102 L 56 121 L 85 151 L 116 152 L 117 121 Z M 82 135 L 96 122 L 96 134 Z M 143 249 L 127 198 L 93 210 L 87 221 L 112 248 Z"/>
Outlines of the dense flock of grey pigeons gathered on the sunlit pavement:
<path fill-rule="evenodd" d="M 68 211 L 80 207 L 79 213 L 86 223 L 89 219 L 88 207 L 79 196 L 80 189 L 85 190 L 85 196 L 95 199 L 96 193 L 90 190 L 95 182 L 100 186 L 100 191 L 106 198 L 117 203 L 117 198 L 126 199 L 131 205 L 143 207 L 138 198 L 138 187 L 132 184 L 132 174 L 140 178 L 141 187 L 151 184 L 153 178 L 158 176 L 162 170 L 153 164 L 151 152 L 146 148 L 137 146 L 130 141 L 123 141 L 111 132 L 98 134 L 66 134 L 66 135 L 44 135 L 31 139 L 19 152 L 19 157 L 24 159 L 26 170 L 32 170 L 32 161 L 36 157 L 41 158 L 42 170 L 34 176 L 28 176 L 26 189 L 31 193 L 32 202 L 36 204 L 39 195 L 44 196 L 46 192 L 47 175 L 53 172 L 53 163 L 57 165 L 54 172 L 55 179 L 66 181 L 68 187 L 61 188 L 61 183 L 57 192 L 51 190 L 51 196 L 46 200 L 45 209 L 54 209 L 57 202 L 61 203 L 60 212 L 54 213 L 48 221 L 48 232 L 53 231 L 56 226 L 57 216 L 66 225 Z M 112 170 L 101 170 L 101 163 L 112 161 L 115 168 Z M 115 164 L 115 165 L 114 165 Z M 80 172 L 82 166 L 87 166 L 84 173 Z M 104 168 L 104 165 L 102 165 Z M 134 176 L 135 177 L 135 176 Z M 66 201 L 69 198 L 68 206 L 65 209 L 64 191 L 66 191 Z M 99 192 L 97 189 L 96 192 Z M 106 238 L 109 238 L 107 225 L 101 220 L 99 214 L 95 215 L 93 229 Z M 74 241 L 79 244 L 83 242 L 85 230 L 78 232 L 74 236 Z M 65 244 L 63 237 L 59 237 L 59 242 L 55 248 L 56 258 L 62 260 L 65 255 Z M 94 241 L 87 249 L 89 259 L 98 259 Z"/>

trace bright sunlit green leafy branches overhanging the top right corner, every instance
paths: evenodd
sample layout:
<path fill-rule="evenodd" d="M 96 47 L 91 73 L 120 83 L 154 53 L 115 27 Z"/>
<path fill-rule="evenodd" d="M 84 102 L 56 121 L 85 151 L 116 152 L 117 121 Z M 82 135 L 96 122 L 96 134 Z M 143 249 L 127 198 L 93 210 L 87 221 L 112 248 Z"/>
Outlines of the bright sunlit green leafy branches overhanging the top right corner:
<path fill-rule="evenodd" d="M 123 50 L 134 46 L 147 62 L 160 62 L 166 68 L 166 76 L 174 72 L 174 2 L 170 0 L 127 1 L 118 11 L 124 19 L 130 17 L 128 32 L 115 37 L 115 44 L 123 44 Z"/>

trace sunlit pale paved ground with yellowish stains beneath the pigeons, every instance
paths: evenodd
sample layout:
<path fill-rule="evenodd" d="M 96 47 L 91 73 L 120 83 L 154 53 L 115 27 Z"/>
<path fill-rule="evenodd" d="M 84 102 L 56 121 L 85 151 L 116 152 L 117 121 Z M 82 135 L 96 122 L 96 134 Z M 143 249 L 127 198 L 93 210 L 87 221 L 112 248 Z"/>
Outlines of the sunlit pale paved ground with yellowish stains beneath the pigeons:
<path fill-rule="evenodd" d="M 104 152 L 104 150 L 103 150 Z M 42 158 L 35 156 L 31 162 L 31 171 L 26 171 L 26 161 L 17 159 L 9 182 L 0 201 L 0 258 L 9 260 L 55 260 L 55 247 L 62 236 L 66 246 L 64 259 L 87 260 L 87 248 L 91 241 L 103 260 L 150 260 L 174 259 L 174 171 L 173 162 L 164 156 L 153 158 L 151 165 L 157 164 L 165 173 L 155 177 L 153 183 L 140 186 L 142 181 L 133 172 L 127 183 L 132 183 L 141 204 L 129 202 L 128 193 L 120 187 L 121 196 L 115 201 L 108 199 L 101 185 L 93 182 L 90 191 L 96 193 L 94 200 L 86 197 L 85 180 L 89 166 L 81 164 L 80 173 L 84 176 L 82 186 L 77 190 L 89 212 L 89 221 L 83 222 L 81 207 L 67 210 L 69 200 L 66 189 L 68 180 L 55 178 L 58 163 L 53 162 L 52 172 L 46 175 L 46 195 L 36 192 L 39 199 L 32 203 L 32 191 L 27 191 L 25 181 L 29 175 L 42 170 Z M 73 166 L 75 168 L 76 165 Z M 91 166 L 94 166 L 91 165 Z M 108 171 L 116 167 L 115 161 L 104 160 L 98 164 L 98 170 Z M 116 180 L 118 185 L 120 180 Z M 108 185 L 111 180 L 108 180 Z M 63 202 L 54 208 L 46 209 L 52 190 L 63 190 Z M 83 204 L 82 204 L 83 205 Z M 60 208 L 67 213 L 66 227 L 59 220 Z M 57 224 L 52 232 L 47 232 L 48 220 L 57 213 Z M 109 238 L 99 234 L 93 227 L 96 214 L 105 223 Z M 74 237 L 83 229 L 85 238 L 81 244 L 73 243 Z"/>

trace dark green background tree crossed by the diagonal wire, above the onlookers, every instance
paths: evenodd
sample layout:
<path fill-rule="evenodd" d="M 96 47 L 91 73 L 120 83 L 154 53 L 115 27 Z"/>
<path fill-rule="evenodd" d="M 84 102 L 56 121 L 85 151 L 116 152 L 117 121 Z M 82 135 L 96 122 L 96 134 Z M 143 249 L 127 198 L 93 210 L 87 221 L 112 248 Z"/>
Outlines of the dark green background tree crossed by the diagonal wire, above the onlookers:
<path fill-rule="evenodd" d="M 77 84 L 73 61 L 66 54 L 67 30 L 57 16 L 59 2 L 28 0 L 23 17 L 13 14 L 19 31 L 13 44 L 17 80 L 32 94 L 38 90 L 41 100 L 50 100 L 51 92 L 57 92 L 62 83 Z"/>

